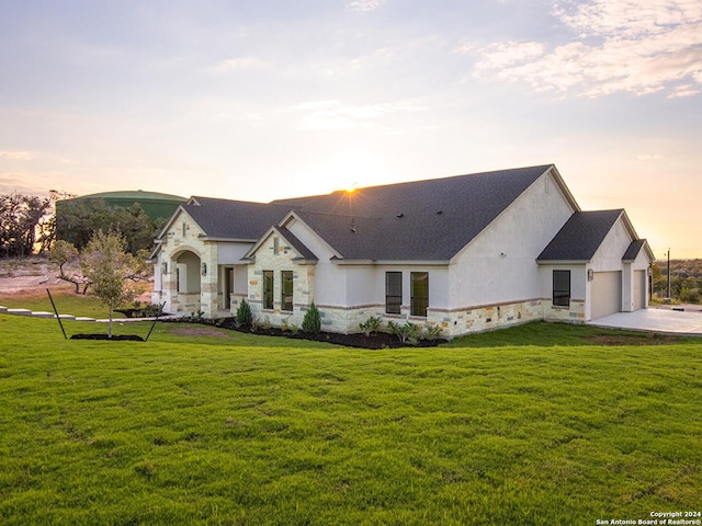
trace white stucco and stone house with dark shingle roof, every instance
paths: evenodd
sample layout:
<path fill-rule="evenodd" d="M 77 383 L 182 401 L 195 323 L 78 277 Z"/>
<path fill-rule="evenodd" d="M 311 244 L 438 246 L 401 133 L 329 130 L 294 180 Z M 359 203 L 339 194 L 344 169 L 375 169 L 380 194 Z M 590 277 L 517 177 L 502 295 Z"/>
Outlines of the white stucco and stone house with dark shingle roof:
<path fill-rule="evenodd" d="M 156 239 L 154 302 L 359 332 L 372 316 L 445 336 L 648 306 L 654 255 L 623 209 L 582 211 L 555 165 L 269 204 L 191 197 Z"/>

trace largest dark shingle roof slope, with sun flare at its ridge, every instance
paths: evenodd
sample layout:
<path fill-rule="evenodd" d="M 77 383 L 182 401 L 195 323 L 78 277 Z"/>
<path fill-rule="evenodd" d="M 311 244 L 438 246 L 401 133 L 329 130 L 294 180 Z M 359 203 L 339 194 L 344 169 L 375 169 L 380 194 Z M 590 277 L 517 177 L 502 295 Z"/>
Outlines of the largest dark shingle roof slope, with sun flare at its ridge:
<path fill-rule="evenodd" d="M 546 164 L 272 204 L 294 209 L 343 259 L 448 261 L 550 170 L 561 181 Z"/>

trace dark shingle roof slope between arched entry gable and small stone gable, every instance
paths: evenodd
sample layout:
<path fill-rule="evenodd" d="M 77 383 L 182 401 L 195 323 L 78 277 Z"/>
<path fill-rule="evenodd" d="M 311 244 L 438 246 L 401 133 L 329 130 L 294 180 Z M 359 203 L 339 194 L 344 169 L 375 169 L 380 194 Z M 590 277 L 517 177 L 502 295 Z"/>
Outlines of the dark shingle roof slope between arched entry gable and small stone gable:
<path fill-rule="evenodd" d="M 286 206 L 193 197 L 183 208 L 212 238 L 256 241 L 290 210 Z"/>

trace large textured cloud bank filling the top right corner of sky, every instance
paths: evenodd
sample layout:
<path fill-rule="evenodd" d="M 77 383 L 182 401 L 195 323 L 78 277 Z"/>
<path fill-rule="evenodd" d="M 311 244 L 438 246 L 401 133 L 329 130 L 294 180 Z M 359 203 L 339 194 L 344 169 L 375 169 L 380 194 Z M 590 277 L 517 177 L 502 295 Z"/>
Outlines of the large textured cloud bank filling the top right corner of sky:
<path fill-rule="evenodd" d="M 574 32 L 571 42 L 551 47 L 540 42 L 483 46 L 474 75 L 592 98 L 622 91 L 639 95 L 669 91 L 671 98 L 700 92 L 699 0 L 568 0 L 556 4 L 553 14 Z"/>

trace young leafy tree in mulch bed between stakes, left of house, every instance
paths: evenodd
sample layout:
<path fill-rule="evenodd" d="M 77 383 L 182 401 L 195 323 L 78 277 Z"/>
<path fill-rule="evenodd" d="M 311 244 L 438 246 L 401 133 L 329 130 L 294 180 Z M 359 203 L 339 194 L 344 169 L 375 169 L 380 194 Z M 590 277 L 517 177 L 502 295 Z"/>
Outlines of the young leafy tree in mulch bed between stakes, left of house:
<path fill-rule="evenodd" d="M 132 255 L 126 252 L 126 241 L 121 235 L 98 230 L 80 255 L 80 267 L 93 294 L 110 309 L 109 338 L 112 338 L 114 309 L 133 301 L 143 291 L 139 282 L 149 278 L 146 254 Z"/>

